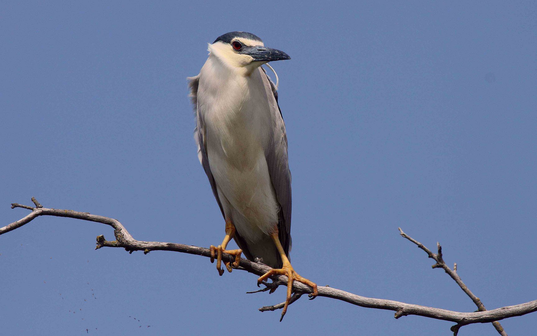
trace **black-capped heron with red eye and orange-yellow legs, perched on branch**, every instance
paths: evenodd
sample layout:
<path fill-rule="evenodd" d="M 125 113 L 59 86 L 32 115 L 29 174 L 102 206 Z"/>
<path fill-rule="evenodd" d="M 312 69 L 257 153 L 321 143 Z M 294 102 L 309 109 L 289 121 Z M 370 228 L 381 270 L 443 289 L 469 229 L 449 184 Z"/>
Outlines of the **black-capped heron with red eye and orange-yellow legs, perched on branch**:
<path fill-rule="evenodd" d="M 286 275 L 281 321 L 293 281 L 309 285 L 312 297 L 318 294 L 317 285 L 296 273 L 289 261 L 291 171 L 287 134 L 277 84 L 262 67 L 291 58 L 265 47 L 256 35 L 240 31 L 220 35 L 208 44 L 208 52 L 199 74 L 187 80 L 196 119 L 198 159 L 226 223 L 222 244 L 211 245 L 211 262 L 216 258 L 216 269 L 222 275 L 222 253 L 235 256 L 233 262 L 224 262 L 229 272 L 238 267 L 241 254 L 248 260 L 262 260 L 272 269 L 258 278 L 258 285 L 273 275 Z M 231 239 L 239 249 L 226 249 Z"/>

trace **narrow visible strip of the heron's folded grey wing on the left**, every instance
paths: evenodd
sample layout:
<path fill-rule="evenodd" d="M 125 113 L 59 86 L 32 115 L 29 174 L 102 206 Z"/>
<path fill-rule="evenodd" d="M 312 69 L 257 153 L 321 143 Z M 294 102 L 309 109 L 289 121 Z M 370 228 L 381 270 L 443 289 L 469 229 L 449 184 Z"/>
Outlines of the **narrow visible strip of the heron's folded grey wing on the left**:
<path fill-rule="evenodd" d="M 209 166 L 209 159 L 207 156 L 207 142 L 205 141 L 205 125 L 203 118 L 201 118 L 200 113 L 198 113 L 198 86 L 199 86 L 199 78 L 200 76 L 195 77 L 187 77 L 186 79 L 188 82 L 188 88 L 190 88 L 190 99 L 192 104 L 194 105 L 194 112 L 196 113 L 196 128 L 194 129 L 194 140 L 196 141 L 196 144 L 198 145 L 198 159 L 200 160 L 201 166 L 205 170 L 205 174 L 207 174 L 207 178 L 209 179 L 209 183 L 211 183 L 211 189 L 213 189 L 213 195 L 214 198 L 216 198 L 216 202 L 218 203 L 218 206 L 220 206 L 220 211 L 222 212 L 222 216 L 224 219 L 226 218 L 226 215 L 224 214 L 224 209 L 222 208 L 222 203 L 220 202 L 220 198 L 218 197 L 218 191 L 216 191 L 216 181 L 214 180 L 213 173 L 211 172 L 211 166 Z M 241 237 L 238 232 L 235 232 L 235 242 L 237 242 L 238 247 L 242 249 L 242 252 L 246 256 L 247 259 L 253 260 L 252 255 L 248 249 L 248 246 L 246 246 L 246 242 Z"/>

